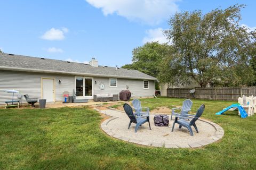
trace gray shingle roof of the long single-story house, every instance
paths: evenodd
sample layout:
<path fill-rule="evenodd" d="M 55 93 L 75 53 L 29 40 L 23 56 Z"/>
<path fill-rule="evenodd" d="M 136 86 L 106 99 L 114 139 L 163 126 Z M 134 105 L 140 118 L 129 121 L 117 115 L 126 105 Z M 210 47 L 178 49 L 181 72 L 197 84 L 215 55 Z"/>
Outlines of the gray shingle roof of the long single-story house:
<path fill-rule="evenodd" d="M 157 80 L 150 75 L 137 70 L 128 70 L 116 67 L 99 66 L 89 64 L 52 60 L 47 58 L 29 57 L 23 55 L 10 55 L 0 53 L 0 70 L 23 70 L 31 72 L 65 73 L 73 75 L 91 75 L 98 77 L 115 77 Z"/>

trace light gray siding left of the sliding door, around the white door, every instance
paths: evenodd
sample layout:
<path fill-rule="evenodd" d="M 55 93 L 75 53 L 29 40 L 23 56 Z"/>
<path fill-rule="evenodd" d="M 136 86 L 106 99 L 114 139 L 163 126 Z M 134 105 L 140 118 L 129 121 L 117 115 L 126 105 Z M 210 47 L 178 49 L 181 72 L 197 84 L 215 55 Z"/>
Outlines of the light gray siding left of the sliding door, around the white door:
<path fill-rule="evenodd" d="M 73 96 L 74 76 L 0 70 L 0 105 L 12 99 L 12 94 L 5 92 L 9 89 L 18 90 L 22 95 L 29 94 L 31 98 L 41 98 L 41 78 L 55 78 L 55 101 L 64 100 L 63 91 L 69 91 L 69 94 Z M 14 99 L 17 99 L 17 94 L 14 94 Z M 22 103 L 26 103 L 23 97 Z"/>

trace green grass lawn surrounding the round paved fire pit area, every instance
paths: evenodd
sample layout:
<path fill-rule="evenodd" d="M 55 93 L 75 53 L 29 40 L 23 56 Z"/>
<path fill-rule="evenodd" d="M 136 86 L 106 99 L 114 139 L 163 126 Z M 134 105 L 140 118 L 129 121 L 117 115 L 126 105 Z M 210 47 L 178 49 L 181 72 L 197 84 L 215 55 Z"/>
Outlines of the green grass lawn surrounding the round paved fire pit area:
<path fill-rule="evenodd" d="M 151 109 L 183 101 L 141 100 Z M 108 137 L 100 114 L 86 107 L 0 109 L 0 169 L 255 169 L 256 115 L 214 115 L 234 101 L 193 102 L 193 112 L 204 103 L 203 117 L 225 130 L 220 142 L 199 149 L 141 147 Z"/>

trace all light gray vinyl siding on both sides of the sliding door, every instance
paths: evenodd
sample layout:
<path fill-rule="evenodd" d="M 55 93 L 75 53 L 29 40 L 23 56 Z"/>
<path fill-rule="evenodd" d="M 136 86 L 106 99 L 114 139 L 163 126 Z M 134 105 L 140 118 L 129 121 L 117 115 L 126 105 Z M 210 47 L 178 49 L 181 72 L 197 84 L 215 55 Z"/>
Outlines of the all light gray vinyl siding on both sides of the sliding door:
<path fill-rule="evenodd" d="M 79 77 L 79 76 L 78 76 Z M 5 90 L 18 90 L 22 95 L 29 94 L 31 98 L 42 98 L 41 96 L 41 78 L 55 79 L 55 101 L 63 101 L 63 91 L 68 91 L 70 96 L 73 96 L 75 88 L 75 75 L 58 75 L 58 74 L 41 74 L 29 72 L 15 72 L 0 70 L 0 105 L 5 104 L 4 101 L 11 100 L 12 94 L 5 92 Z M 61 83 L 59 84 L 59 80 Z M 95 84 L 95 81 L 97 84 Z M 105 89 L 99 88 L 100 83 L 105 84 Z M 109 87 L 109 78 L 94 77 L 93 78 L 93 94 L 119 94 L 121 90 L 126 89 L 132 92 L 132 97 L 152 97 L 155 92 L 155 85 L 153 80 L 149 80 L 149 89 L 143 89 L 143 80 L 135 79 L 117 79 L 117 87 Z M 17 99 L 17 94 L 14 94 L 14 99 Z M 22 103 L 26 103 L 22 97 Z"/>

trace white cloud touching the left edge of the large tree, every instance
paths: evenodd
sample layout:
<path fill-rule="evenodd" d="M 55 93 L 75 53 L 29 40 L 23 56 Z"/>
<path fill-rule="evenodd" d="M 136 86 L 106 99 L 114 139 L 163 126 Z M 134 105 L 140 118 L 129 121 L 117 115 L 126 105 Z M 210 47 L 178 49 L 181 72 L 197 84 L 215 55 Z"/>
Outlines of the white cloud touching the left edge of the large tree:
<path fill-rule="evenodd" d="M 143 38 L 142 43 L 145 44 L 147 42 L 151 43 L 153 41 L 158 41 L 159 43 L 167 43 L 168 40 L 163 34 L 162 28 L 149 29 L 146 30 L 147 36 Z"/>

